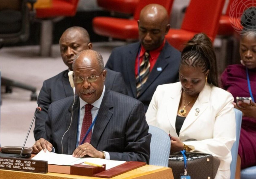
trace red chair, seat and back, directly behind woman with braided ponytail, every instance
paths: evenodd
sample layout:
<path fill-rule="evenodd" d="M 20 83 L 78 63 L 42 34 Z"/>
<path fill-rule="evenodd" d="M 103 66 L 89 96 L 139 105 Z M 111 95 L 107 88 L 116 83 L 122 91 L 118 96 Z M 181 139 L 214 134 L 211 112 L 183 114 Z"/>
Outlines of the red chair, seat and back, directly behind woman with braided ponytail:
<path fill-rule="evenodd" d="M 224 3 L 225 0 L 191 0 L 181 29 L 170 29 L 166 40 L 180 51 L 197 33 L 203 32 L 213 41 L 219 28 Z"/>

